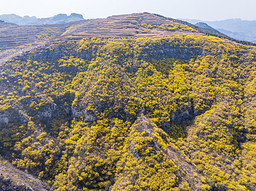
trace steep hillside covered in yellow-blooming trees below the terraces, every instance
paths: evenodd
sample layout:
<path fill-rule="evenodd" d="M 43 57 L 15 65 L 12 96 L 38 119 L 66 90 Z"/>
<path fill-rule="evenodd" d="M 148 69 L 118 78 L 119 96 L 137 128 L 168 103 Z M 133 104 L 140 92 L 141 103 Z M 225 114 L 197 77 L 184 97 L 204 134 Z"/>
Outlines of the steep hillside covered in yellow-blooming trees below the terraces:
<path fill-rule="evenodd" d="M 55 190 L 256 187 L 255 47 L 86 38 L 0 71 L 1 155 Z"/>

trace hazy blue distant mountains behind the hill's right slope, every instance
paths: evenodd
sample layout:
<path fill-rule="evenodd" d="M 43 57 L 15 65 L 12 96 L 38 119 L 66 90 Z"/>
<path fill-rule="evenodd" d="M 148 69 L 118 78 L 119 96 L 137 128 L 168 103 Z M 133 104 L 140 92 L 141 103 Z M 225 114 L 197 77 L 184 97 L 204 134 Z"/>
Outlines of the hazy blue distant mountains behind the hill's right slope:
<path fill-rule="evenodd" d="M 229 37 L 256 43 L 256 21 L 246 21 L 241 19 L 227 19 L 223 21 L 202 21 L 197 19 L 180 20 L 187 21 L 192 24 L 204 22 Z"/>

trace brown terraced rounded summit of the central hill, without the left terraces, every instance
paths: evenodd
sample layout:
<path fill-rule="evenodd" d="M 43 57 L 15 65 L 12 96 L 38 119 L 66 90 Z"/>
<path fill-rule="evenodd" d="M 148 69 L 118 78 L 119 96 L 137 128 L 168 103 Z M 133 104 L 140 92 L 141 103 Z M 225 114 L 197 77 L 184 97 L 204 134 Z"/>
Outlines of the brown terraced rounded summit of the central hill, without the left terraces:
<path fill-rule="evenodd" d="M 141 24 L 151 24 L 152 28 L 142 27 Z M 167 35 L 202 35 L 197 31 L 162 31 L 157 28 L 164 24 L 174 23 L 163 17 L 147 13 L 110 16 L 107 19 L 82 21 L 81 25 L 59 38 L 81 39 L 90 37 L 145 37 L 160 38 Z"/>

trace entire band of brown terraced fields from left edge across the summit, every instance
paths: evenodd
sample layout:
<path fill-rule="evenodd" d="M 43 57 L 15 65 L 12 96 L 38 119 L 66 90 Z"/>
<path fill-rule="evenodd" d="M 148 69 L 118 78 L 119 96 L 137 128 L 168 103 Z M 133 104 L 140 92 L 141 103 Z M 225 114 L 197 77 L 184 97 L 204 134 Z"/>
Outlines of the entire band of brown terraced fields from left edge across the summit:
<path fill-rule="evenodd" d="M 143 26 L 143 25 L 144 26 Z M 145 25 L 146 24 L 146 25 Z M 151 25 L 150 28 L 145 26 Z M 0 50 L 13 47 L 54 43 L 60 40 L 78 40 L 102 37 L 161 38 L 168 35 L 203 35 L 194 31 L 161 29 L 161 25 L 178 24 L 164 17 L 149 13 L 110 16 L 106 19 L 83 20 L 55 25 L 19 26 L 0 23 Z"/>

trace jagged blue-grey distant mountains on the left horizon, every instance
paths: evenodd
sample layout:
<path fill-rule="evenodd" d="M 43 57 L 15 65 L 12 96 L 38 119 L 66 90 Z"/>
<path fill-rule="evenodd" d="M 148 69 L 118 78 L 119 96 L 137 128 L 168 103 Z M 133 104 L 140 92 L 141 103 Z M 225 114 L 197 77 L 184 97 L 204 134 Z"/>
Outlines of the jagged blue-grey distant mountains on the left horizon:
<path fill-rule="evenodd" d="M 47 25 L 47 24 L 56 24 L 64 22 L 73 22 L 84 20 L 83 15 L 72 13 L 70 16 L 66 14 L 58 14 L 48 18 L 38 19 L 36 16 L 24 16 L 21 17 L 15 14 L 5 14 L 0 15 L 0 20 L 5 22 L 12 22 L 17 25 Z"/>

